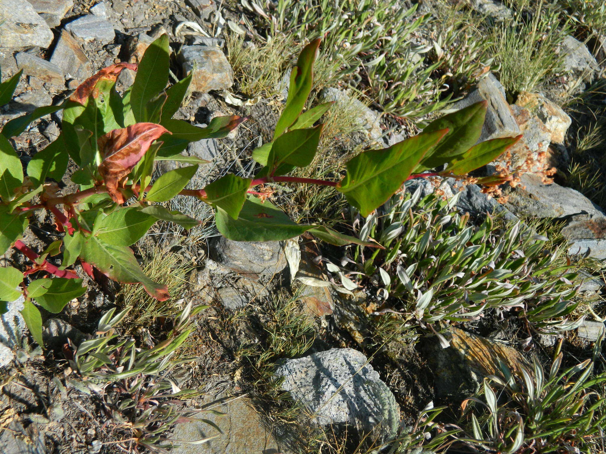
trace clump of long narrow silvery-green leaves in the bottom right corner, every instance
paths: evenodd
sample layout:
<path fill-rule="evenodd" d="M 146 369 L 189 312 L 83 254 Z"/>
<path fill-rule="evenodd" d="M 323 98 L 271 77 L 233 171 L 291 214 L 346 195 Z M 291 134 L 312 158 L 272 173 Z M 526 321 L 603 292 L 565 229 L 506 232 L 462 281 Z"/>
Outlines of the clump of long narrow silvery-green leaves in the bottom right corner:
<path fill-rule="evenodd" d="M 504 370 L 504 379 L 485 379 L 479 393 L 462 404 L 465 444 L 484 452 L 604 452 L 602 339 L 603 334 L 593 359 L 563 372 L 560 343 L 547 374 L 535 360 L 533 370 L 522 369 L 522 377 Z"/>

